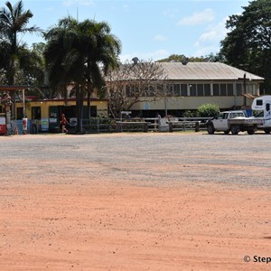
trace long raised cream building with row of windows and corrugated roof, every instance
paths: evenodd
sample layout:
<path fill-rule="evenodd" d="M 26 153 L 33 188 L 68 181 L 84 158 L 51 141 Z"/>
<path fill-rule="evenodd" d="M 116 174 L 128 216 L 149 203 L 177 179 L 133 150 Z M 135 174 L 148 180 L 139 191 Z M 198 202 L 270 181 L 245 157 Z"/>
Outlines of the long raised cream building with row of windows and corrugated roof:
<path fill-rule="evenodd" d="M 167 84 L 173 95 L 155 101 L 141 98 L 131 107 L 134 115 L 154 117 L 163 115 L 182 117 L 185 110 L 194 110 L 205 103 L 214 103 L 220 110 L 249 107 L 259 96 L 264 78 L 220 62 L 163 62 Z"/>

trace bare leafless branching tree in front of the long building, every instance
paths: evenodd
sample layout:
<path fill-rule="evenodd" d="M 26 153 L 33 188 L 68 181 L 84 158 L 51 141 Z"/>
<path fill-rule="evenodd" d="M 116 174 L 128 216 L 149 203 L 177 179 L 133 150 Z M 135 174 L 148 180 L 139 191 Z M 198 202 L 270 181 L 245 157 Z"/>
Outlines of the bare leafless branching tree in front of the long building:
<path fill-rule="evenodd" d="M 107 75 L 110 114 L 120 117 L 121 111 L 131 110 L 135 104 L 173 97 L 173 84 L 167 79 L 160 62 L 136 60 L 119 65 Z"/>

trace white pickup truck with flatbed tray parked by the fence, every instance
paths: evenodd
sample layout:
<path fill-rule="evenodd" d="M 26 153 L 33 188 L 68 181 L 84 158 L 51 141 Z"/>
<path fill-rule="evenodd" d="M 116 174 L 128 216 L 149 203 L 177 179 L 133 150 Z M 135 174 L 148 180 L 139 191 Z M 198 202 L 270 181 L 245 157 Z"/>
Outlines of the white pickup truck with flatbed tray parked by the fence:
<path fill-rule="evenodd" d="M 248 135 L 253 135 L 257 126 L 263 123 L 262 119 L 250 118 L 246 111 L 233 110 L 220 112 L 217 117 L 207 122 L 208 134 L 213 135 L 214 132 L 224 132 L 226 135 L 231 132 L 232 135 L 238 135 L 238 132 L 247 131 Z"/>

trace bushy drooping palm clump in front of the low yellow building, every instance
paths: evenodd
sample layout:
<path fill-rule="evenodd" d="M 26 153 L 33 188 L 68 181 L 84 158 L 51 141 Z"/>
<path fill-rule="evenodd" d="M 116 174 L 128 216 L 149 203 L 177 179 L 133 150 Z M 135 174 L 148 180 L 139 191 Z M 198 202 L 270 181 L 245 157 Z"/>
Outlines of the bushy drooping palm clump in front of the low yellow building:
<path fill-rule="evenodd" d="M 110 68 L 117 67 L 120 42 L 110 33 L 107 23 L 90 20 L 79 23 L 70 16 L 46 33 L 45 39 L 48 43 L 44 57 L 51 85 L 67 85 L 71 82 L 75 85 L 77 132 L 81 133 L 85 92 L 90 99 L 90 91 L 100 89 L 104 84 L 104 74 Z"/>

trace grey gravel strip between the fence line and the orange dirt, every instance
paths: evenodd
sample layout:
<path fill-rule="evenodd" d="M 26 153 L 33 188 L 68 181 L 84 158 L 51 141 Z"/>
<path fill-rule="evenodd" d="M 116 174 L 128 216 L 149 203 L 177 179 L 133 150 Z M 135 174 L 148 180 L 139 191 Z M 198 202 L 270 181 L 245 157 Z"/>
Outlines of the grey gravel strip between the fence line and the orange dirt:
<path fill-rule="evenodd" d="M 14 180 L 33 182 L 32 175 L 43 182 L 51 175 L 83 175 L 117 182 L 127 176 L 137 185 L 203 181 L 270 189 L 270 143 L 270 135 L 245 133 L 0 137 L 1 178 L 14 174 Z"/>

